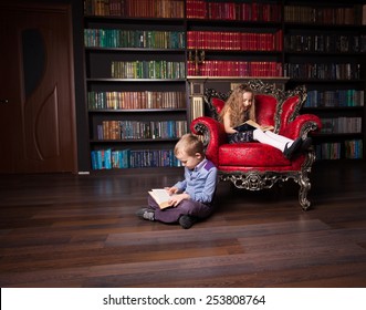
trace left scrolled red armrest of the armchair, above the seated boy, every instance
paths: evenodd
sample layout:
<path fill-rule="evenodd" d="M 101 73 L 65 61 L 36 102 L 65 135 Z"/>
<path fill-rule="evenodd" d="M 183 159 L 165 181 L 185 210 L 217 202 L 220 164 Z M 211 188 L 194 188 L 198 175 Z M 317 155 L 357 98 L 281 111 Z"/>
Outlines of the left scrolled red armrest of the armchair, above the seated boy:
<path fill-rule="evenodd" d="M 206 156 L 215 165 L 219 164 L 219 146 L 228 141 L 223 125 L 208 116 L 195 118 L 190 124 L 192 134 L 201 135 Z"/>

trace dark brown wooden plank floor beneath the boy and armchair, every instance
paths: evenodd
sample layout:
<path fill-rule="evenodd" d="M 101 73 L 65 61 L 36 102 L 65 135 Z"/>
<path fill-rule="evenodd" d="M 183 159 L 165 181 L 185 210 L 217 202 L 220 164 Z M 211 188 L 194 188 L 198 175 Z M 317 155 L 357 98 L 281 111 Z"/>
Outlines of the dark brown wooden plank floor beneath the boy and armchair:
<path fill-rule="evenodd" d="M 0 176 L 1 287 L 366 287 L 366 166 L 316 163 L 297 184 L 218 187 L 191 229 L 140 220 L 151 187 L 180 169 Z"/>

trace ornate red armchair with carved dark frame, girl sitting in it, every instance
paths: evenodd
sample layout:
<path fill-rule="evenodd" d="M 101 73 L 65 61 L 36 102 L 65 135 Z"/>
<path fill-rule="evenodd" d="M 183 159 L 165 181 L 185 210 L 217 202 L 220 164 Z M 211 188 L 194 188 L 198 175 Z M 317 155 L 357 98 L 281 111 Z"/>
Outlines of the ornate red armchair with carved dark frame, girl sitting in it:
<path fill-rule="evenodd" d="M 321 128 L 317 116 L 300 115 L 307 95 L 305 86 L 282 91 L 260 80 L 248 83 L 255 92 L 259 124 L 273 125 L 275 133 L 293 140 L 299 136 L 305 138 L 310 132 Z M 217 121 L 229 94 L 206 90 L 203 99 L 211 115 L 198 117 L 190 124 L 191 132 L 202 136 L 206 155 L 217 165 L 219 179 L 230 180 L 238 188 L 249 190 L 271 188 L 280 180 L 293 179 L 300 185 L 299 202 L 306 210 L 311 205 L 307 200 L 311 188 L 307 174 L 315 161 L 313 147 L 287 159 L 281 151 L 258 142 L 229 144 L 222 124 Z"/>

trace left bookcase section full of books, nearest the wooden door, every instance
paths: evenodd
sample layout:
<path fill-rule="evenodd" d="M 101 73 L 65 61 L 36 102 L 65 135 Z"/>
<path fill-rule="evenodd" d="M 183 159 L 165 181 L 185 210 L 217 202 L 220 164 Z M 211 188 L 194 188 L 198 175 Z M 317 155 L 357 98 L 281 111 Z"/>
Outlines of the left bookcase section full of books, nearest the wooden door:
<path fill-rule="evenodd" d="M 188 131 L 184 1 L 85 1 L 92 169 L 177 167 Z"/>

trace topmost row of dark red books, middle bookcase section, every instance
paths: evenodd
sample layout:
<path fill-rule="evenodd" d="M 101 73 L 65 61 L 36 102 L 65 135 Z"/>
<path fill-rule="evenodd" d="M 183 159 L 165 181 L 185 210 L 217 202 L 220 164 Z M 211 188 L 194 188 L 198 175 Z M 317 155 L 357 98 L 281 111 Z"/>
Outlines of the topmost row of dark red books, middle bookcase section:
<path fill-rule="evenodd" d="M 211 1 L 187 0 L 186 12 L 188 19 L 213 19 L 238 21 L 281 20 L 281 6 L 265 1 Z"/>

